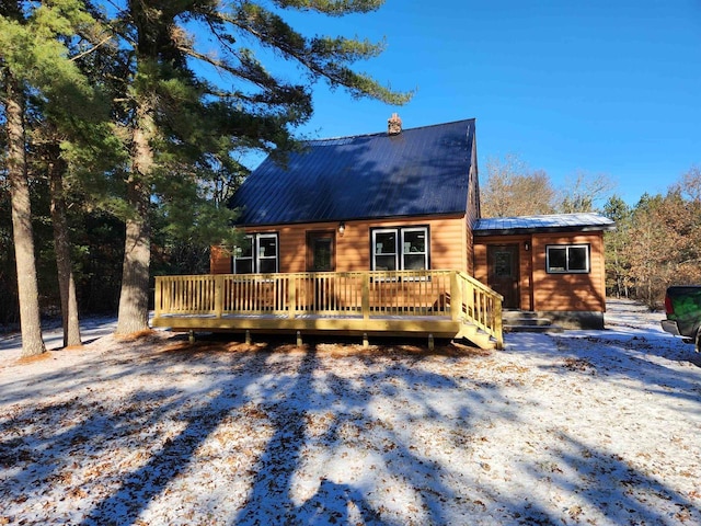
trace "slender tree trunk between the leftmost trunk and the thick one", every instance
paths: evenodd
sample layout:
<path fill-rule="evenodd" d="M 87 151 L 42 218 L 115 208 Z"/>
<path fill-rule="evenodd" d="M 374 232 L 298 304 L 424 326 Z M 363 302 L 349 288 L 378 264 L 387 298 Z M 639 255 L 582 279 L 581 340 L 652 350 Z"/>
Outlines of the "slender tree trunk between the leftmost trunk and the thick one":
<path fill-rule="evenodd" d="M 82 345 L 80 322 L 78 319 L 78 298 L 70 256 L 70 237 L 66 218 L 66 199 L 64 197 L 65 162 L 60 152 L 51 147 L 49 153 L 48 179 L 51 193 L 51 224 L 54 226 L 54 243 L 56 245 L 56 266 L 58 270 L 58 289 L 61 296 L 61 318 L 64 321 L 64 346 Z"/>

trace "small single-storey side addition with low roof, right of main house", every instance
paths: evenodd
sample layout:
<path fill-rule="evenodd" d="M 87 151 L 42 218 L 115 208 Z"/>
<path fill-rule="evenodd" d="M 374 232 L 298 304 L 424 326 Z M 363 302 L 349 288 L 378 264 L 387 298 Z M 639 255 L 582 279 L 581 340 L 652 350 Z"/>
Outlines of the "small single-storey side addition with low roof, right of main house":
<path fill-rule="evenodd" d="M 604 329 L 604 232 L 599 214 L 481 218 L 473 227 L 474 277 L 505 309 L 535 312 L 571 329 Z"/>

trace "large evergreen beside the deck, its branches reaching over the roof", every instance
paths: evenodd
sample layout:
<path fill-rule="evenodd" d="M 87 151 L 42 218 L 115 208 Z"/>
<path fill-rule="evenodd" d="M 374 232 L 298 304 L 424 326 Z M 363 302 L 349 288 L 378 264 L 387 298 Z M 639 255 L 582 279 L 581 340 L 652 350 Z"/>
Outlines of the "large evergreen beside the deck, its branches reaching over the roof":
<path fill-rule="evenodd" d="M 203 181 L 212 181 L 222 169 L 241 170 L 232 161 L 232 151 L 294 147 L 292 128 L 311 116 L 314 81 L 325 79 L 358 98 L 392 104 L 409 100 L 410 95 L 350 68 L 379 54 L 382 45 L 308 37 L 284 18 L 289 10 L 331 16 L 365 13 L 382 3 L 131 0 L 105 5 L 105 13 L 116 9 L 114 20 L 105 25 L 114 28 L 117 47 L 127 49 L 130 59 L 122 90 L 125 96 L 115 112 L 126 132 L 130 158 L 124 171 L 128 207 L 123 209 L 126 241 L 117 333 L 148 327 L 154 205 L 166 214 L 174 231 L 218 242 L 227 235 L 232 215 L 223 206 L 212 208 Z M 215 47 L 203 47 L 207 42 L 216 43 Z M 245 47 L 245 42 L 254 44 Z M 304 83 L 286 82 L 264 67 L 258 54 L 271 50 L 300 67 Z M 206 80 L 199 73 L 205 68 L 226 81 Z M 183 210 L 194 210 L 194 216 L 183 217 Z"/>

